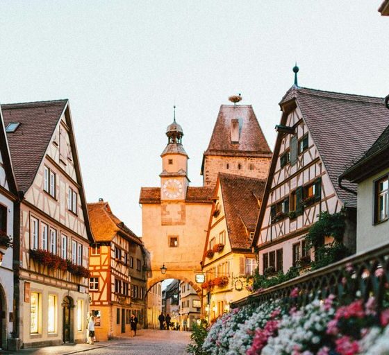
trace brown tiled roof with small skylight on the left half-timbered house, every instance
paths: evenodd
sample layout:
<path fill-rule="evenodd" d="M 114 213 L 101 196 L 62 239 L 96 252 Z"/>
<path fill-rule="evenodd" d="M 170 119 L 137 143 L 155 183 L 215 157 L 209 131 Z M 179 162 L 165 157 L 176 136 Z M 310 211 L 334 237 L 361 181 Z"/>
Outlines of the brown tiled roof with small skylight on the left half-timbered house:
<path fill-rule="evenodd" d="M 11 122 L 20 123 L 15 132 L 7 133 L 7 139 L 17 187 L 24 193 L 38 173 L 66 105 L 67 100 L 1 105 L 6 126 Z"/>

